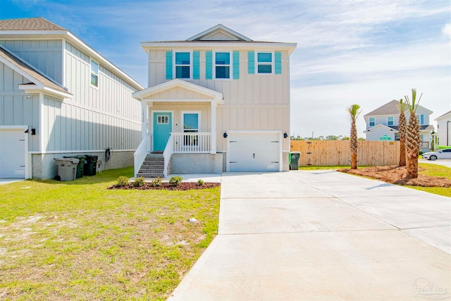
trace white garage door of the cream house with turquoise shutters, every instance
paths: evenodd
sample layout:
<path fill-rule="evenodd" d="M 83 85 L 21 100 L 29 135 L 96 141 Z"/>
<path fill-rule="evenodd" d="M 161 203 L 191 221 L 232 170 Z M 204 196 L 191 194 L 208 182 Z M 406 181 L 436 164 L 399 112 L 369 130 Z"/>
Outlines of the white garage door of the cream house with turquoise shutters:
<path fill-rule="evenodd" d="M 279 133 L 229 133 L 229 171 L 279 171 Z"/>

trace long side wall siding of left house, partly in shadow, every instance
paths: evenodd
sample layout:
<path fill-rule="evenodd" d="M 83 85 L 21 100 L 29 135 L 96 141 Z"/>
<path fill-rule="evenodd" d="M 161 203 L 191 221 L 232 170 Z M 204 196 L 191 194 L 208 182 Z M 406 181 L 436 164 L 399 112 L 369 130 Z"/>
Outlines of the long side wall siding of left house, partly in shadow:
<path fill-rule="evenodd" d="M 141 139 L 141 105 L 131 96 L 136 89 L 101 65 L 99 85 L 92 86 L 89 56 L 68 42 L 65 53 L 66 87 L 73 99 L 56 106 L 56 120 L 61 119 L 66 133 L 57 137 L 61 143 L 54 147 L 64 149 L 66 145 L 66 149 L 80 151 L 136 149 Z M 53 146 L 51 142 L 49 145 Z"/>

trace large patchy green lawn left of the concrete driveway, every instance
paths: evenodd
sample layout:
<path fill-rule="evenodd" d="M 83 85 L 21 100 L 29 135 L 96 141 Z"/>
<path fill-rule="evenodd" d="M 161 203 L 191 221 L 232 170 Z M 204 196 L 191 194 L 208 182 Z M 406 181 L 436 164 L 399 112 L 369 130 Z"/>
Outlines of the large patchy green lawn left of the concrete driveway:
<path fill-rule="evenodd" d="M 0 300 L 168 297 L 217 233 L 220 190 L 106 190 L 119 176 L 0 186 Z"/>

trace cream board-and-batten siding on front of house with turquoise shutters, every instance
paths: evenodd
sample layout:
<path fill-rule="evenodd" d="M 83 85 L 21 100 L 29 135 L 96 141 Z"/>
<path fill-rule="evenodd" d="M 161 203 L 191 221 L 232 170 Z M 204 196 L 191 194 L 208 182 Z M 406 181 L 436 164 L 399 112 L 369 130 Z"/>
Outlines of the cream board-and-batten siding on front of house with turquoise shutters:
<path fill-rule="evenodd" d="M 166 51 L 189 49 L 150 49 L 149 87 L 166 82 Z M 206 50 L 199 49 L 199 80 L 187 80 L 196 85 L 223 93 L 224 103 L 216 111 L 216 149 L 227 151 L 227 140 L 222 139 L 228 130 L 281 130 L 290 129 L 289 54 L 281 52 L 281 74 L 259 75 L 248 72 L 248 50 L 239 51 L 239 79 L 206 80 Z M 211 49 L 209 49 L 211 50 Z M 221 51 L 224 49 L 213 49 Z M 232 49 L 227 49 L 232 51 Z M 255 49 L 259 51 L 259 49 Z M 263 50 L 262 50 L 263 51 Z M 232 63 L 231 63 L 232 64 Z M 152 110 L 153 108 L 151 108 Z M 290 149 L 289 140 L 283 139 L 282 148 Z"/>

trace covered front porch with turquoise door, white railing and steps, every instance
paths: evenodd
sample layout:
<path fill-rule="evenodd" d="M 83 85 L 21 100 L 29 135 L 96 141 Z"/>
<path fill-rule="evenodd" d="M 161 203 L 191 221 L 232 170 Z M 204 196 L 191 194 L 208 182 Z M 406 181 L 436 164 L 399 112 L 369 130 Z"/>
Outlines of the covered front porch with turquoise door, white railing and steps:
<path fill-rule="evenodd" d="M 142 104 L 135 176 L 149 153 L 163 158 L 158 169 L 164 177 L 173 154 L 216 154 L 216 107 L 223 104 L 222 93 L 175 79 L 135 92 L 133 97 Z"/>

